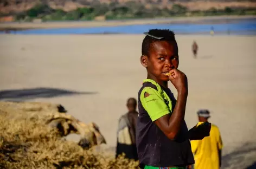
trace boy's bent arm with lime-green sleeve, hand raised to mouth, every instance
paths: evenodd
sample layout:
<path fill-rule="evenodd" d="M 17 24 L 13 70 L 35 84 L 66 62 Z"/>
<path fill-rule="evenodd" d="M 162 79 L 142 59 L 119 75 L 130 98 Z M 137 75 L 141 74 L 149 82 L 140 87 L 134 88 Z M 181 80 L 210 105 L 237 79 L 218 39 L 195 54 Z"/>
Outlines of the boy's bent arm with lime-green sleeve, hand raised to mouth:
<path fill-rule="evenodd" d="M 164 107 L 166 105 L 163 100 L 160 99 L 154 99 L 155 101 L 148 103 L 146 108 L 148 109 L 148 113 L 151 115 L 152 121 L 155 122 L 155 124 L 169 139 L 173 140 L 180 131 L 181 125 L 184 121 L 185 106 L 188 96 L 188 85 L 187 77 L 185 76 L 185 74 L 177 69 L 173 69 L 170 71 L 169 79 L 178 91 L 178 98 L 174 111 L 171 114 L 169 112 L 166 113 L 167 111 L 169 111 L 169 109 L 167 107 Z M 157 110 L 159 111 L 153 111 L 150 106 L 152 108 L 153 106 L 157 107 Z M 166 109 L 168 110 L 166 111 Z"/>

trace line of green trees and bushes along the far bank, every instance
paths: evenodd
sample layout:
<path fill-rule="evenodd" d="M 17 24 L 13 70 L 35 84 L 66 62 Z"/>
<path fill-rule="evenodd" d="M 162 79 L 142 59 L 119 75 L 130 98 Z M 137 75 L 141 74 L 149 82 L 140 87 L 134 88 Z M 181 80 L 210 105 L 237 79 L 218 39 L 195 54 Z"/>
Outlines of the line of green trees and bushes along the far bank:
<path fill-rule="evenodd" d="M 62 9 L 52 9 L 47 4 L 38 4 L 28 11 L 14 14 L 17 21 L 31 21 L 35 18 L 41 18 L 43 21 L 93 20 L 97 16 L 104 16 L 105 19 L 126 19 L 213 15 L 256 15 L 256 10 L 226 7 L 223 10 L 211 8 L 206 11 L 189 11 L 180 4 L 172 5 L 171 9 L 159 9 L 157 6 L 148 9 L 142 4 L 128 2 L 125 5 L 114 3 L 109 5 L 98 4 L 87 8 L 77 8 L 68 12 Z"/>

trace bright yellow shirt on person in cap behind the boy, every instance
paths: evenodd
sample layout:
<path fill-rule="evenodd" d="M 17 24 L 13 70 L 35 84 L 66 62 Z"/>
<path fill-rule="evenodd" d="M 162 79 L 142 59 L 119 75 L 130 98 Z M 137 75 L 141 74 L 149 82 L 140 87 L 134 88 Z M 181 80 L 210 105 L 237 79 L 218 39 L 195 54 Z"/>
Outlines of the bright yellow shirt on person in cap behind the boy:
<path fill-rule="evenodd" d="M 195 169 L 219 169 L 218 150 L 223 147 L 219 128 L 212 124 L 210 136 L 202 140 L 192 140 Z"/>

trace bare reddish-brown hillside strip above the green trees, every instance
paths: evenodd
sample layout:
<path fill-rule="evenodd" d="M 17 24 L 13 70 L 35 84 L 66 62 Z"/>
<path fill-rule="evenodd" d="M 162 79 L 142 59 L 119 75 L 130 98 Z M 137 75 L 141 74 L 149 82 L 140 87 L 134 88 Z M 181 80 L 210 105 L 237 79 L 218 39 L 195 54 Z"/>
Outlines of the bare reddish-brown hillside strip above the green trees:
<path fill-rule="evenodd" d="M 53 9 L 62 9 L 72 11 L 86 6 L 98 6 L 105 4 L 107 6 L 127 6 L 140 4 L 146 8 L 171 8 L 173 4 L 181 4 L 189 10 L 208 10 L 210 8 L 223 9 L 227 6 L 231 8 L 256 8 L 256 1 L 226 1 L 226 0 L 2 0 L 0 1 L 0 12 L 2 14 L 15 14 L 26 11 L 36 4 L 47 4 Z"/>

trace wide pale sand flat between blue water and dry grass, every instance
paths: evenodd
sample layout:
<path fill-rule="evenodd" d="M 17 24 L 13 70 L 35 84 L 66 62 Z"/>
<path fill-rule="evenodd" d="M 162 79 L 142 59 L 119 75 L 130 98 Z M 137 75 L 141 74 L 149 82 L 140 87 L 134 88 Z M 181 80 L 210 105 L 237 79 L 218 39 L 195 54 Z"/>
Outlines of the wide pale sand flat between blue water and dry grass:
<path fill-rule="evenodd" d="M 137 98 L 146 77 L 139 62 L 143 37 L 0 35 L 0 99 L 61 103 L 75 118 L 99 125 L 114 147 L 126 99 Z M 208 108 L 221 131 L 226 167 L 250 165 L 256 155 L 256 36 L 180 35 L 177 41 L 179 69 L 189 83 L 188 127 L 197 123 L 199 108 Z"/>

